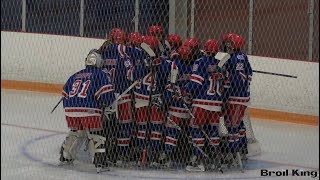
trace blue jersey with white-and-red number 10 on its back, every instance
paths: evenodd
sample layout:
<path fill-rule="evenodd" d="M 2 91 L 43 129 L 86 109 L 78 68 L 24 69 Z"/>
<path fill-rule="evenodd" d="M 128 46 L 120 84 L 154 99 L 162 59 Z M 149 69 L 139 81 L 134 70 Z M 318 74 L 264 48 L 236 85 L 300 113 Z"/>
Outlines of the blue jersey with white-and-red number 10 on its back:
<path fill-rule="evenodd" d="M 208 111 L 221 111 L 224 77 L 218 70 L 219 60 L 203 56 L 193 65 L 190 82 L 185 89 L 193 96 L 192 106 Z"/>

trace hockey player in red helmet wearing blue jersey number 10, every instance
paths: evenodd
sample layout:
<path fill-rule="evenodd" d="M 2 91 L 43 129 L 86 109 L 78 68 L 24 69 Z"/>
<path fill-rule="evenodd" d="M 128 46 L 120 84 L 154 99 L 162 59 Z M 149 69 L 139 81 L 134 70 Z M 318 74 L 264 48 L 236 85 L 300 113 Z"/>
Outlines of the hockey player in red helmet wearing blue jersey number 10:
<path fill-rule="evenodd" d="M 223 94 L 223 75 L 217 66 L 219 61 L 214 58 L 219 50 L 218 41 L 208 40 L 204 50 L 205 56 L 194 63 L 191 80 L 185 90 L 193 96 L 192 112 L 195 118 L 190 122 L 192 140 L 203 149 L 206 135 L 209 136 L 210 152 L 216 156 L 220 144 L 219 118 Z M 193 148 L 193 156 L 186 170 L 205 170 L 203 156 L 198 148 Z"/>

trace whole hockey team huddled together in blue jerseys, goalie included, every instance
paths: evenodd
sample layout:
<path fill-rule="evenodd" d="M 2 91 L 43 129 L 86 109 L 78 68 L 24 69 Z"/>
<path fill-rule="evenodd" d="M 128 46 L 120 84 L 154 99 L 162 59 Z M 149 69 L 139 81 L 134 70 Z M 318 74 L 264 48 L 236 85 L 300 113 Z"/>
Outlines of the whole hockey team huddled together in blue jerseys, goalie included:
<path fill-rule="evenodd" d="M 209 39 L 202 48 L 198 38 L 183 42 L 178 34 L 165 36 L 161 26 L 150 26 L 147 35 L 113 28 L 63 88 L 70 131 L 61 164 L 72 163 L 86 142 L 98 172 L 132 161 L 170 168 L 179 158 L 187 159 L 187 171 L 241 168 L 252 77 L 244 46 L 234 33 L 223 35 L 221 43 Z M 225 136 L 219 133 L 221 118 Z M 190 153 L 177 155 L 179 146 Z"/>

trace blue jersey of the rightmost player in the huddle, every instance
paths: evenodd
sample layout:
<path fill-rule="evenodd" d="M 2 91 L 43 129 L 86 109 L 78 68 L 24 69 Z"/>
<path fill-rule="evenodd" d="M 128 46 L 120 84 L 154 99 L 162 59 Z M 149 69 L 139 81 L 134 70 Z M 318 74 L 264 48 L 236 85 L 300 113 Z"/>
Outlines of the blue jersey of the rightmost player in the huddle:
<path fill-rule="evenodd" d="M 252 79 L 252 68 L 247 55 L 244 53 L 232 54 L 224 68 L 230 81 L 230 87 L 226 89 L 229 103 L 247 105 L 250 101 Z"/>

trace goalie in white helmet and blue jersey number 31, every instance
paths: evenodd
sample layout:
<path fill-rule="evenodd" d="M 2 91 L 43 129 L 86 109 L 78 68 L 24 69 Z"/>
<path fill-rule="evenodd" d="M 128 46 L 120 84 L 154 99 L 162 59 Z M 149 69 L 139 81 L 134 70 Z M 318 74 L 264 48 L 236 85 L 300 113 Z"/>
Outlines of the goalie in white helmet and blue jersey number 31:
<path fill-rule="evenodd" d="M 88 137 L 89 151 L 95 167 L 99 170 L 108 165 L 102 108 L 110 106 L 115 95 L 110 76 L 101 69 L 102 59 L 97 50 L 90 51 L 85 65 L 85 69 L 68 79 L 62 91 L 63 107 L 70 131 L 61 147 L 60 161 L 74 161 Z"/>

